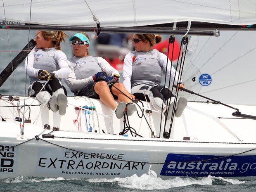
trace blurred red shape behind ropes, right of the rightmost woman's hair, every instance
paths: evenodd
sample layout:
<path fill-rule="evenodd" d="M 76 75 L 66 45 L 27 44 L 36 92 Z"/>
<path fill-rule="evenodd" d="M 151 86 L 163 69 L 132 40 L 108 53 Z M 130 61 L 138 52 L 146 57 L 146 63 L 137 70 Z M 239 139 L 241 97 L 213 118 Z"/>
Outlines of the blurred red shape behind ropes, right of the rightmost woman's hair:
<path fill-rule="evenodd" d="M 156 44 L 153 47 L 153 49 L 157 49 L 157 50 L 159 50 L 159 52 L 162 52 L 165 55 L 167 55 L 168 45 L 169 45 L 169 39 L 166 39 L 166 40 L 160 42 L 159 44 Z M 177 60 L 179 57 L 179 51 L 180 51 L 180 43 L 177 40 L 174 41 L 174 47 L 173 47 L 173 44 L 170 43 L 169 59 L 171 60 L 171 56 L 172 56 L 172 52 L 173 52 L 173 61 Z"/>

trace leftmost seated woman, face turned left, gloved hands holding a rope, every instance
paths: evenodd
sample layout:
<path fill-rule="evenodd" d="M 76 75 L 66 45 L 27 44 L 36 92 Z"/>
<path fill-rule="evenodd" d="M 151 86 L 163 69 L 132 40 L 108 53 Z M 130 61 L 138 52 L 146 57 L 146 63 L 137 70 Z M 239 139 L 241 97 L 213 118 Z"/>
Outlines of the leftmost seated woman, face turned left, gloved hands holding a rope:
<path fill-rule="evenodd" d="M 36 96 L 48 109 L 59 111 L 60 115 L 66 113 L 68 103 L 66 90 L 60 82 L 60 78 L 69 75 L 67 58 L 60 47 L 65 38 L 63 31 L 37 31 L 36 49 L 28 54 L 25 62 L 30 78 L 28 95 Z"/>

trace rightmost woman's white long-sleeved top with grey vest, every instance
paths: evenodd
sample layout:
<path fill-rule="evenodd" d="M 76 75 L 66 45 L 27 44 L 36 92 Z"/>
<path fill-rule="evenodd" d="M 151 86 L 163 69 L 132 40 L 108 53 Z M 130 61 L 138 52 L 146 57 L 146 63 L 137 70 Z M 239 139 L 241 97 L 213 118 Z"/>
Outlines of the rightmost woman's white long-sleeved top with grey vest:
<path fill-rule="evenodd" d="M 131 92 L 131 87 L 139 84 L 159 86 L 162 73 L 166 70 L 167 59 L 166 55 L 155 49 L 148 52 L 133 51 L 127 54 L 123 63 L 123 85 L 126 90 Z M 169 59 L 166 74 L 171 75 L 171 80 L 175 77 L 174 82 L 178 83 L 178 73 L 171 66 Z"/>

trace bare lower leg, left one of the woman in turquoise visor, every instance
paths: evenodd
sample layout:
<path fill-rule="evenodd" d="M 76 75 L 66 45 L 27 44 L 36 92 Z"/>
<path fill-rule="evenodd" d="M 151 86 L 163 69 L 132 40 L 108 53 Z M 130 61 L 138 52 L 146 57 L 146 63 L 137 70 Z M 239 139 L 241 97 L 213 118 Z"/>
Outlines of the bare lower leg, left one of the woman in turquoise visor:
<path fill-rule="evenodd" d="M 107 85 L 107 82 L 105 81 L 97 82 L 94 86 L 94 90 L 98 95 L 100 95 L 100 100 L 102 101 L 103 104 L 105 104 L 107 107 L 111 108 L 112 110 L 116 109 L 117 103 L 114 100 L 114 97 L 109 90 L 109 86 Z"/>

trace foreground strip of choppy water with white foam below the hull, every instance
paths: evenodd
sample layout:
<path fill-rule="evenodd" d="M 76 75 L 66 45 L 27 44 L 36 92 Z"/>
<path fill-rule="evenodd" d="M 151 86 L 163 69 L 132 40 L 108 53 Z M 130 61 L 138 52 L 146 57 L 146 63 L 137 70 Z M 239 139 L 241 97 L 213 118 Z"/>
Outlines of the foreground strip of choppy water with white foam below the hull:
<path fill-rule="evenodd" d="M 172 178 L 133 175 L 114 179 L 17 178 L 0 179 L 0 192 L 255 192 L 256 180 Z"/>

